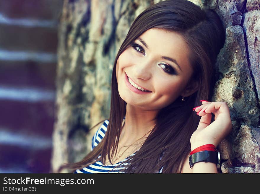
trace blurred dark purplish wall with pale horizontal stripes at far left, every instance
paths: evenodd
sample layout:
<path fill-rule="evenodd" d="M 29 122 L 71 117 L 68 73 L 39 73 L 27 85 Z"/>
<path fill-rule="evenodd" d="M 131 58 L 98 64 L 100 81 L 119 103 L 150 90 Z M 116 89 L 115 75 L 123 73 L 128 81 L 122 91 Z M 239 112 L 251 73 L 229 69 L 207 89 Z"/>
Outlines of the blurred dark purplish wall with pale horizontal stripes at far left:
<path fill-rule="evenodd" d="M 63 0 L 0 1 L 0 173 L 48 173 Z"/>

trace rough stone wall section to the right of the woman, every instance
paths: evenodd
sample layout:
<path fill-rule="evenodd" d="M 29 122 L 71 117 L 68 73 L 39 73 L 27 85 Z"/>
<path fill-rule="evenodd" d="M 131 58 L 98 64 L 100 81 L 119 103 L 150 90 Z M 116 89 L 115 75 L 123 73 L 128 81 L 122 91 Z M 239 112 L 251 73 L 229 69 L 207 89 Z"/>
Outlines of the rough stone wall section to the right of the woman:
<path fill-rule="evenodd" d="M 212 101 L 230 107 L 233 131 L 219 147 L 223 173 L 259 173 L 259 10 L 247 12 L 249 1 L 204 1 L 226 27 L 217 57 Z M 259 5 L 260 2 L 257 4 Z M 246 5 L 245 5 L 246 4 Z M 251 4 L 250 4 L 251 5 Z M 251 6 L 252 7 L 252 6 Z"/>

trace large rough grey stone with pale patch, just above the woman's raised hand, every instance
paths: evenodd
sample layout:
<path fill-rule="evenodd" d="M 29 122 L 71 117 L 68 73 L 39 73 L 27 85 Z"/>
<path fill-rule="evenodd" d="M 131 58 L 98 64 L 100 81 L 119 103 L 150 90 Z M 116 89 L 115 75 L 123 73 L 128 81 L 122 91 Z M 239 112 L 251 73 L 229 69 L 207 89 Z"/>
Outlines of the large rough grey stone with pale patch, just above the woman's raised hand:
<path fill-rule="evenodd" d="M 247 65 L 241 26 L 229 26 L 226 29 L 225 45 L 217 57 L 216 68 L 219 80 L 213 101 L 227 102 L 232 120 L 256 126 L 259 123 L 259 109 Z"/>

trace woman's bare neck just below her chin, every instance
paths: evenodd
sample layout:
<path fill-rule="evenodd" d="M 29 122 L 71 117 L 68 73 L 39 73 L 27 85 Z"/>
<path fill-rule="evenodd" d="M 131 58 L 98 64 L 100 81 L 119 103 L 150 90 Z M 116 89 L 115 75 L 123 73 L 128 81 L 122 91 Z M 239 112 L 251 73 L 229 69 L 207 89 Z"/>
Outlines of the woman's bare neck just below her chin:
<path fill-rule="evenodd" d="M 144 110 L 126 104 L 126 118 L 121 137 L 136 139 L 144 136 L 155 125 L 155 116 L 158 110 Z M 150 134 L 147 133 L 145 137 Z"/>

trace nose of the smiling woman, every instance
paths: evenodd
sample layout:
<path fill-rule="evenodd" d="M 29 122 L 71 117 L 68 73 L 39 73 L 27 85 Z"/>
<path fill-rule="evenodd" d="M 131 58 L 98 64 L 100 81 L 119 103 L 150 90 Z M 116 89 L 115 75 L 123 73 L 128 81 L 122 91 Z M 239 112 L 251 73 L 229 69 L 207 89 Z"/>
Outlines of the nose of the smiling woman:
<path fill-rule="evenodd" d="M 148 80 L 152 75 L 152 61 L 144 59 L 134 66 L 134 76 L 136 79 Z"/>

